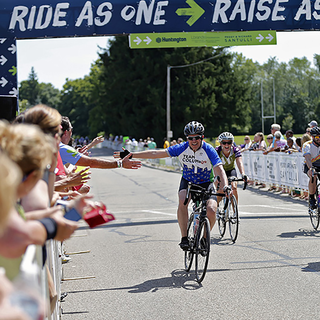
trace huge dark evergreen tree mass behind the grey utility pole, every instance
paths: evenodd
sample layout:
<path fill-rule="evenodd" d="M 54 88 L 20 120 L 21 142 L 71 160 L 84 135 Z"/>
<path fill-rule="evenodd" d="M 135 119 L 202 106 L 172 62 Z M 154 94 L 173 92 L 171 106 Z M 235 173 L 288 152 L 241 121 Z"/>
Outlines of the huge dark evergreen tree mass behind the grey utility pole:
<path fill-rule="evenodd" d="M 220 52 L 221 56 L 205 63 L 171 69 L 174 137 L 181 136 L 191 120 L 202 122 L 208 137 L 232 128 L 245 130 L 250 123 L 250 83 L 243 81 L 239 69 L 232 68 L 230 53 L 212 48 L 132 50 L 125 37 L 110 41 L 109 49 L 100 54 L 100 92 L 90 111 L 90 127 L 162 141 L 166 135 L 167 65 L 187 65 Z"/>

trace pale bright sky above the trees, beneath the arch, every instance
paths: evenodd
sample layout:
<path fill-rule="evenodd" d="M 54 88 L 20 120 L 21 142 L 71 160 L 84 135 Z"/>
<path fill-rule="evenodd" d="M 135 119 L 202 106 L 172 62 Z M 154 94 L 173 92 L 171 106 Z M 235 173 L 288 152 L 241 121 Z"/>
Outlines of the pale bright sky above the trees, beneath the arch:
<path fill-rule="evenodd" d="M 314 54 L 320 54 L 320 31 L 277 32 L 276 35 L 276 45 L 234 46 L 230 50 L 242 52 L 245 57 L 260 64 L 274 56 L 279 62 L 305 56 L 313 63 Z M 27 80 L 34 67 L 39 82 L 52 83 L 61 90 L 66 78 L 74 80 L 89 74 L 91 64 L 98 59 L 98 46 L 106 48 L 108 38 L 18 40 L 18 82 Z"/>

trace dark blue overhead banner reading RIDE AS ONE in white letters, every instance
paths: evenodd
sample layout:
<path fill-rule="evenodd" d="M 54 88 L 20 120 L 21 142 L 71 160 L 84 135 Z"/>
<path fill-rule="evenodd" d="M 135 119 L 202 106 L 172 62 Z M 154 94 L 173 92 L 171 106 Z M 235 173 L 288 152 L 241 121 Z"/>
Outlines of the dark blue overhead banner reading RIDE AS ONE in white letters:
<path fill-rule="evenodd" d="M 0 38 L 318 30 L 320 0 L 1 0 Z"/>

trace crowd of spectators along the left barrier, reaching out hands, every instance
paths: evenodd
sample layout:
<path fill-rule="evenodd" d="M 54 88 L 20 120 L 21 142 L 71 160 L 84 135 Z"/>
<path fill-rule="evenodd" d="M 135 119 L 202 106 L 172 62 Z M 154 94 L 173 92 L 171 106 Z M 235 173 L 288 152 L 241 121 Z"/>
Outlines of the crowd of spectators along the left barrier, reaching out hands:
<path fill-rule="evenodd" d="M 28 109 L 11 124 L 0 120 L 0 320 L 44 319 L 40 295 L 25 293 L 23 299 L 16 299 L 11 281 L 19 274 L 30 244 L 43 247 L 43 268 L 47 268 L 47 240 L 60 243 L 56 259 L 61 264 L 71 260 L 63 252 L 62 242 L 76 230 L 84 212 L 106 209 L 88 195 L 88 170 L 141 166 L 129 156 L 123 160 L 89 157 L 88 149 L 104 138 L 77 140 L 76 150 L 68 145 L 72 131 L 68 117 L 45 105 Z M 77 170 L 76 165 L 84 168 Z M 49 286 L 52 277 L 48 272 Z M 51 289 L 49 292 L 56 292 Z M 34 300 L 33 308 L 30 303 L 21 304 L 30 300 Z"/>

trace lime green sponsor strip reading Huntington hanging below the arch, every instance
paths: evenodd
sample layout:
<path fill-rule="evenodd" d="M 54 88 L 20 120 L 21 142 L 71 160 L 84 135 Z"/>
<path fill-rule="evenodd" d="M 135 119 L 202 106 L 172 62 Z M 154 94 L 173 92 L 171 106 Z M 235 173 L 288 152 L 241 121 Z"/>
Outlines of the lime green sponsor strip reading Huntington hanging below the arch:
<path fill-rule="evenodd" d="M 277 44 L 276 31 L 133 33 L 131 49 Z"/>

